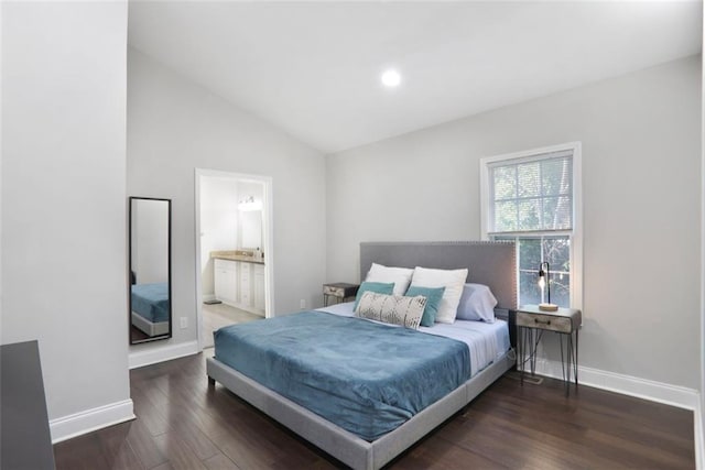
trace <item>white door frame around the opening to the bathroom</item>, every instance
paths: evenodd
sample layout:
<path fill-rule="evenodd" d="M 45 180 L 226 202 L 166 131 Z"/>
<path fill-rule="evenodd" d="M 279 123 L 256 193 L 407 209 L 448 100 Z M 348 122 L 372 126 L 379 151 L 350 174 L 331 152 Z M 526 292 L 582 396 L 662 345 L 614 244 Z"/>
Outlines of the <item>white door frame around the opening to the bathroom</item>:
<path fill-rule="evenodd" d="M 247 173 L 225 172 L 220 170 L 195 168 L 195 239 L 196 239 L 196 334 L 198 350 L 203 351 L 203 292 L 200 274 L 200 181 L 203 177 L 230 178 L 236 182 L 262 183 L 262 251 L 264 263 L 264 317 L 274 313 L 274 230 L 272 177 Z"/>

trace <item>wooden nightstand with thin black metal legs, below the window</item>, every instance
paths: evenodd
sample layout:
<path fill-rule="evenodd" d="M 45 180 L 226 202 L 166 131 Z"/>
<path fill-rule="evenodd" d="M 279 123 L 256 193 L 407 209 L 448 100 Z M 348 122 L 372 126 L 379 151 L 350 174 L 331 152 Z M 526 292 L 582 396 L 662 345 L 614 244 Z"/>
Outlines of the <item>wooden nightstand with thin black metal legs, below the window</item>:
<path fill-rule="evenodd" d="M 519 373 L 523 384 L 527 361 L 531 367 L 531 375 L 536 369 L 536 346 L 543 331 L 560 334 L 561 367 L 565 382 L 566 396 L 571 392 L 571 371 L 575 375 L 577 387 L 577 342 L 578 329 L 583 324 L 583 313 L 575 308 L 558 308 L 556 311 L 544 311 L 538 305 L 522 305 L 517 309 L 517 349 L 519 356 Z M 575 343 L 573 343 L 575 334 Z M 566 338 L 565 354 L 563 352 L 563 337 Z M 527 353 L 529 357 L 527 358 Z"/>

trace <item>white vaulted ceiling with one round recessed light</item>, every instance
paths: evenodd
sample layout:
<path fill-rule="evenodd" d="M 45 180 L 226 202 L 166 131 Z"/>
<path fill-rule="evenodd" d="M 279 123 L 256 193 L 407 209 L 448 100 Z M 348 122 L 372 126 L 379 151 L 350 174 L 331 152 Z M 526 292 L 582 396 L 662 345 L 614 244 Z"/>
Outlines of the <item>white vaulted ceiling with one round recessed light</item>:
<path fill-rule="evenodd" d="M 129 43 L 333 153 L 696 54 L 702 2 L 131 1 Z"/>

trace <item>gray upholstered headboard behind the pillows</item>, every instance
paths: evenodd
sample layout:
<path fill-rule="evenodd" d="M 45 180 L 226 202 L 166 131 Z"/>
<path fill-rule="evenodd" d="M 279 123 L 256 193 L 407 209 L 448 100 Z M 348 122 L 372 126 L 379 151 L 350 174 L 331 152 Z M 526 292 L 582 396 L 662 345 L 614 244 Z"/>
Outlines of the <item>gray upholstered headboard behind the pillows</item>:
<path fill-rule="evenodd" d="M 517 258 L 513 242 L 362 242 L 360 276 L 372 263 L 399 267 L 468 269 L 467 282 L 486 284 L 497 297 L 497 308 L 517 309 Z"/>

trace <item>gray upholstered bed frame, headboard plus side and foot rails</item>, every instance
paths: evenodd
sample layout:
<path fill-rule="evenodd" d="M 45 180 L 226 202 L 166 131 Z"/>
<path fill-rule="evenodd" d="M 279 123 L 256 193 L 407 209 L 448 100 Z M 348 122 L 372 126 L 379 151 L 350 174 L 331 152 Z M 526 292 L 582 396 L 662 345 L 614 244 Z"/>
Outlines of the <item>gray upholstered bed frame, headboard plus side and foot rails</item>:
<path fill-rule="evenodd" d="M 487 284 L 498 300 L 496 311 L 509 319 L 517 308 L 517 262 L 513 242 L 379 242 L 360 243 L 360 276 L 372 262 L 401 267 L 468 267 L 468 282 Z M 511 325 L 511 321 L 510 321 Z M 512 342 L 512 345 L 514 345 Z M 289 427 L 354 469 L 373 470 L 388 463 L 441 425 L 511 369 L 512 351 L 433 405 L 369 442 L 322 418 L 258 382 L 219 362 L 206 360 L 208 383 L 220 382 L 264 414 Z"/>

